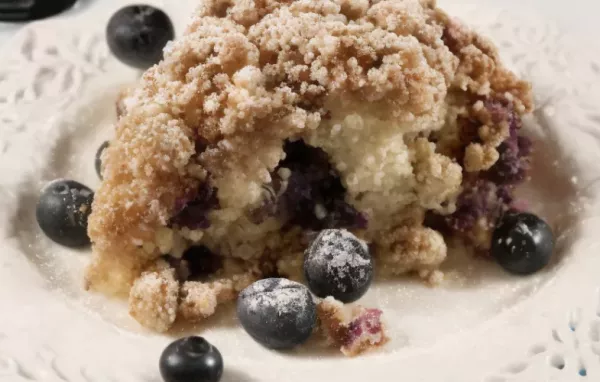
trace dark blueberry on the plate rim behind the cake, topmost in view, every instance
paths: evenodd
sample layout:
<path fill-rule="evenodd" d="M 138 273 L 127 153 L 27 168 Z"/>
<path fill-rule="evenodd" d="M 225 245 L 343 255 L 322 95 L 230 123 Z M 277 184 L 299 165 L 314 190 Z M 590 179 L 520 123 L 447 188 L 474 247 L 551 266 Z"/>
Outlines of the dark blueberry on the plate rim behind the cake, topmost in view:
<path fill-rule="evenodd" d="M 162 60 L 163 48 L 173 37 L 169 16 L 148 5 L 120 9 L 106 27 L 112 53 L 123 63 L 144 70 Z"/>

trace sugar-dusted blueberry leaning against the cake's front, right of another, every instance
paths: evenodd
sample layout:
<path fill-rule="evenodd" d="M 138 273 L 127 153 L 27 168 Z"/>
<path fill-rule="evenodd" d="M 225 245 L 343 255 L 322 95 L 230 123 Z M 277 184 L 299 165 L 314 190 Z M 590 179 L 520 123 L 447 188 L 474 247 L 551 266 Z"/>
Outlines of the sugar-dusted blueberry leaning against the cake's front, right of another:
<path fill-rule="evenodd" d="M 304 254 L 304 276 L 315 295 L 352 302 L 369 289 L 373 261 L 365 242 L 349 231 L 327 229 Z"/>

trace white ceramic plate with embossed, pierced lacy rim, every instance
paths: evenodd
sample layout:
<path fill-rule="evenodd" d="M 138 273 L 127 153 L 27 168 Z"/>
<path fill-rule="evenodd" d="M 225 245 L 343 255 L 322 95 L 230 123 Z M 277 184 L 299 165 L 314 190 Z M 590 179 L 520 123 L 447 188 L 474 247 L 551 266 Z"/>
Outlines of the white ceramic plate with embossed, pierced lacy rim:
<path fill-rule="evenodd" d="M 179 30 L 193 6 L 149 2 Z M 94 153 L 111 135 L 116 93 L 138 75 L 109 56 L 103 37 L 124 3 L 31 24 L 0 53 L 0 381 L 160 381 L 172 337 L 83 292 L 90 254 L 52 244 L 33 212 L 49 180 L 98 185 Z M 392 341 L 354 359 L 271 352 L 219 315 L 194 330 L 224 355 L 224 382 L 600 380 L 600 6 L 440 3 L 533 82 L 538 107 L 526 125 L 538 150 L 523 192 L 557 233 L 556 261 L 516 278 L 458 253 L 440 288 L 379 284 L 364 302 L 384 309 Z"/>

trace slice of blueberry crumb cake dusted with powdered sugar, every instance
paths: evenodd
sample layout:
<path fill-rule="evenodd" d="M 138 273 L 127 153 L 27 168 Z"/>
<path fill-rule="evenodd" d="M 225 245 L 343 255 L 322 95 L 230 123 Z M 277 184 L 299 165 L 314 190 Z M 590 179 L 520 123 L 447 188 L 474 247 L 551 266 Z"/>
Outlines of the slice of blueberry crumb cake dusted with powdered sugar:
<path fill-rule="evenodd" d="M 159 331 L 301 278 L 324 228 L 436 281 L 442 234 L 486 250 L 529 161 L 529 84 L 433 0 L 205 0 L 125 101 L 86 283 Z"/>

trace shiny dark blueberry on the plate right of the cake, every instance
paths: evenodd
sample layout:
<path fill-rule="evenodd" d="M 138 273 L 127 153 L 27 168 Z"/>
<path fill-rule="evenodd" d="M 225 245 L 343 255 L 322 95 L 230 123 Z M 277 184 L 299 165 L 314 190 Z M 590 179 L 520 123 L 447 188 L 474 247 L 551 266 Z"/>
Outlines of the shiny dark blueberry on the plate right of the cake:
<path fill-rule="evenodd" d="M 544 268 L 553 250 L 550 226 L 530 213 L 507 213 L 492 237 L 492 256 L 504 269 L 520 275 Z"/>

